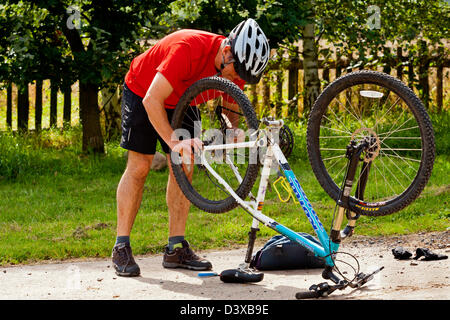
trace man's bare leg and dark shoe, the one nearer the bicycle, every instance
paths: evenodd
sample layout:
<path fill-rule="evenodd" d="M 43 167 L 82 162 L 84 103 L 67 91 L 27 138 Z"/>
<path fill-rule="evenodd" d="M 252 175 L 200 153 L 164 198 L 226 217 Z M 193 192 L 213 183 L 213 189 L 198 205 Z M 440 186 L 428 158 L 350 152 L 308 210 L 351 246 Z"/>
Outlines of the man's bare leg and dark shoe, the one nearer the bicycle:
<path fill-rule="evenodd" d="M 166 268 L 186 268 L 192 270 L 209 270 L 209 261 L 198 257 L 184 240 L 186 222 L 189 215 L 190 201 L 184 196 L 175 176 L 172 173 L 170 154 L 167 153 L 169 164 L 169 181 L 167 182 L 166 201 L 169 209 L 169 245 L 166 247 L 163 266 Z M 187 165 L 187 176 L 192 181 L 194 164 Z"/>

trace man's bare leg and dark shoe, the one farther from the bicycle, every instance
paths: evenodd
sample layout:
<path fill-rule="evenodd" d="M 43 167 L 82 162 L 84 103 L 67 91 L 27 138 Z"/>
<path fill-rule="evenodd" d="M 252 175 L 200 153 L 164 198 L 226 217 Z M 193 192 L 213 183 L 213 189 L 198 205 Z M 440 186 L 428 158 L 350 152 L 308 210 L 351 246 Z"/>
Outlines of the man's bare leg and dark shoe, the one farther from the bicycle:
<path fill-rule="evenodd" d="M 117 187 L 117 240 L 113 249 L 113 264 L 121 276 L 140 274 L 131 251 L 129 236 L 141 205 L 145 180 L 153 155 L 128 151 L 128 162 Z"/>

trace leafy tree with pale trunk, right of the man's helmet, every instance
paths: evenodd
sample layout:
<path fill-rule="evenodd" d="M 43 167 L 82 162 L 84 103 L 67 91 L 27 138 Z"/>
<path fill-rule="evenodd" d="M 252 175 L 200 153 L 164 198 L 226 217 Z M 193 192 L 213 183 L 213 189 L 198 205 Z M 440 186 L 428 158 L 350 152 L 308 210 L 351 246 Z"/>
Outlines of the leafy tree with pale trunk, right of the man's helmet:
<path fill-rule="evenodd" d="M 319 57 L 327 50 L 320 48 L 320 39 L 340 48 L 340 52 L 353 62 L 351 68 L 362 68 L 369 62 L 384 64 L 386 68 L 392 54 L 389 43 L 404 46 L 413 55 L 415 66 L 419 66 L 421 81 L 418 88 L 427 103 L 428 97 L 424 94 L 427 90 L 422 90 L 427 83 L 426 75 L 422 74 L 428 70 L 423 67 L 427 60 L 421 59 L 429 53 L 425 52 L 423 41 L 435 51 L 443 49 L 441 40 L 449 38 L 450 25 L 446 1 L 278 0 L 264 1 L 260 8 L 264 13 L 260 24 L 263 26 L 263 21 L 267 20 L 264 30 L 274 34 L 278 45 L 292 51 L 290 44 L 302 41 L 305 115 L 321 89 Z M 280 25 L 284 30 L 278 29 Z M 356 60 L 355 53 L 358 53 Z M 383 59 L 378 59 L 379 56 Z M 420 66 L 424 71 L 420 71 Z"/>

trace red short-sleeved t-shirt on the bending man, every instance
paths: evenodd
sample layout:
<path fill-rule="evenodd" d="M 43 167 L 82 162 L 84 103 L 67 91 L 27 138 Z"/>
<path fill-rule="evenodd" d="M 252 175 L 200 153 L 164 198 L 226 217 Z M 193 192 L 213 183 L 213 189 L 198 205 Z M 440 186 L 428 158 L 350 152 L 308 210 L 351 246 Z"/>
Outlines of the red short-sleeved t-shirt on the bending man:
<path fill-rule="evenodd" d="M 165 107 L 174 109 L 182 94 L 195 81 L 217 74 L 215 57 L 223 39 L 225 37 L 221 35 L 190 29 L 169 34 L 133 59 L 125 83 L 143 98 L 156 73 L 160 72 L 173 87 L 172 94 L 165 100 Z M 237 80 L 235 83 L 242 89 L 245 81 Z M 205 101 L 193 101 L 192 104 L 197 102 Z"/>

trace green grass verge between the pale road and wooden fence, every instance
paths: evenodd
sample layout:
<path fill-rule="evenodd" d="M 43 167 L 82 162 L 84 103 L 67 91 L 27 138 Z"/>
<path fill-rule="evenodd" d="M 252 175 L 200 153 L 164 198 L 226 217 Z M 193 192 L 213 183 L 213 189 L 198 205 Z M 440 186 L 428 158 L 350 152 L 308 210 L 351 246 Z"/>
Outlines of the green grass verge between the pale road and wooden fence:
<path fill-rule="evenodd" d="M 328 229 L 334 203 L 310 169 L 304 126 L 295 126 L 294 132 L 291 166 Z M 124 150 L 117 142 L 109 142 L 104 156 L 87 157 L 79 151 L 80 137 L 79 127 L 64 132 L 50 129 L 40 135 L 0 133 L 0 265 L 110 256 L 115 241 L 115 192 L 126 164 Z M 450 156 L 438 153 L 433 175 L 419 199 L 394 215 L 361 217 L 357 233 L 446 230 L 449 171 Z M 167 242 L 167 175 L 166 169 L 151 172 L 147 179 L 131 234 L 135 254 L 160 253 Z M 264 213 L 294 230 L 313 233 L 300 207 L 281 203 L 274 190 L 268 191 Z M 228 248 L 247 242 L 250 225 L 251 217 L 242 209 L 209 214 L 192 208 L 186 236 L 197 249 Z M 261 227 L 258 237 L 273 235 L 274 231 Z"/>

